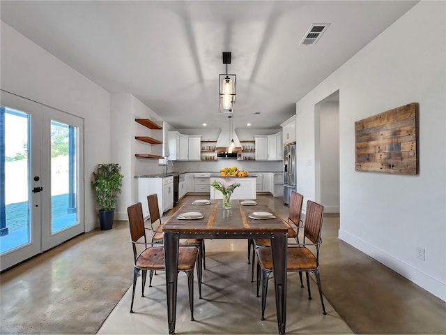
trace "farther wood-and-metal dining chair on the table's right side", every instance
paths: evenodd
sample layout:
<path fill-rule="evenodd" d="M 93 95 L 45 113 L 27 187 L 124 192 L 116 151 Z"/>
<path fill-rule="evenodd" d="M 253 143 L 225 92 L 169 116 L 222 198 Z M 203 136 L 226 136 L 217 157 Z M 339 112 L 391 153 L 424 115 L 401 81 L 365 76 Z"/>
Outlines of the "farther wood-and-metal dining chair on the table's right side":
<path fill-rule="evenodd" d="M 300 220 L 300 214 L 302 213 L 303 202 L 304 202 L 304 196 L 302 194 L 297 193 L 295 191 L 291 192 L 288 223 L 291 223 L 293 230 L 289 230 L 288 237 L 293 237 L 297 243 L 299 243 L 299 230 L 304 227 L 302 220 Z M 256 248 L 259 248 L 261 246 L 267 246 L 267 247 L 271 246 L 271 240 L 252 239 L 251 246 L 252 246 L 251 282 L 254 282 L 254 264 L 255 264 Z M 300 276 L 300 286 L 303 288 L 304 285 L 302 281 L 302 273 L 299 273 L 299 276 Z"/>

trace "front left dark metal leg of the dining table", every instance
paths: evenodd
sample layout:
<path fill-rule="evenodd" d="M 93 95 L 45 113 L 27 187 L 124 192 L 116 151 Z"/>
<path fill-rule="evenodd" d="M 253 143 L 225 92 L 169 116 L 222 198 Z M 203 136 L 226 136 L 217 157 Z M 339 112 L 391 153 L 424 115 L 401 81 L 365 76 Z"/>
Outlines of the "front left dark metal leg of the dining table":
<path fill-rule="evenodd" d="M 164 258 L 166 263 L 167 322 L 169 334 L 175 334 L 176 290 L 178 285 L 179 236 L 164 232 Z"/>

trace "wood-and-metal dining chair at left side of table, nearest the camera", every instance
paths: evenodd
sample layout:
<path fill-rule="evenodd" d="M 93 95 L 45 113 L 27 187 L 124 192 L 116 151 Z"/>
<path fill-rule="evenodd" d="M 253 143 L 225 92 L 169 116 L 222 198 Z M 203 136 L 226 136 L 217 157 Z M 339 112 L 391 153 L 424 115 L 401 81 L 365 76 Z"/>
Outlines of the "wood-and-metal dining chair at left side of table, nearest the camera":
<path fill-rule="evenodd" d="M 136 289 L 139 271 L 142 271 L 141 297 L 144 297 L 147 271 L 150 271 L 149 287 L 151 287 L 153 271 L 165 269 L 164 245 L 147 241 L 141 202 L 137 202 L 137 204 L 128 207 L 127 213 L 134 258 L 132 302 L 130 304 L 130 313 L 133 313 L 134 291 Z M 142 251 L 139 251 L 140 249 L 142 249 Z M 194 320 L 194 267 L 198 255 L 198 248 L 190 246 L 180 246 L 178 248 L 178 271 L 183 271 L 187 275 L 190 320 L 192 321 Z M 199 288 L 201 288 L 200 278 L 198 280 L 198 285 Z"/>

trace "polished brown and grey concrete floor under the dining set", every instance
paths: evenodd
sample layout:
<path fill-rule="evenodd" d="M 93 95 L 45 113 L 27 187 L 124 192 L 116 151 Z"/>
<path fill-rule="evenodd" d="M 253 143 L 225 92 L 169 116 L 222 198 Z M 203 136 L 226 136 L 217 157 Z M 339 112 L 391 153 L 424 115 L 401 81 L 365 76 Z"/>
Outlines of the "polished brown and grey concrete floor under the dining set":
<path fill-rule="evenodd" d="M 279 216 L 288 216 L 281 198 L 260 198 Z M 307 299 L 306 288 L 290 274 L 287 334 L 446 334 L 444 301 L 339 241 L 338 228 L 339 217 L 326 214 L 321 280 L 328 315 L 322 315 L 318 299 Z M 246 241 L 206 241 L 206 260 L 203 299 L 195 290 L 195 322 L 183 296 L 186 286 L 180 289 L 185 277 L 179 276 L 177 334 L 276 334 L 272 291 L 266 321 L 260 320 Z M 125 221 L 17 265 L 0 281 L 1 334 L 168 334 L 162 273 L 153 288 L 146 288 L 145 298 L 138 281 L 135 313 L 128 313 L 132 251 Z"/>

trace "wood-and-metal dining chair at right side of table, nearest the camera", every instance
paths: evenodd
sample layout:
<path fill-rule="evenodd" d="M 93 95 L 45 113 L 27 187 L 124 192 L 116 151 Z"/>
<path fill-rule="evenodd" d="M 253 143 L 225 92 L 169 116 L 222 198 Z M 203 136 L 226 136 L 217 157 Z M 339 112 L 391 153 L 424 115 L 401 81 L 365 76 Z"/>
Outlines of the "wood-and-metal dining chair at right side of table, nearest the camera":
<path fill-rule="evenodd" d="M 309 288 L 309 272 L 314 274 L 318 285 L 319 295 L 323 314 L 325 306 L 323 304 L 323 295 L 321 287 L 321 278 L 319 276 L 319 253 L 321 251 L 321 232 L 323 222 L 323 206 L 311 200 L 307 201 L 307 211 L 305 214 L 304 237 L 302 243 L 289 244 L 286 247 L 286 271 L 305 272 L 307 277 L 308 299 L 312 299 L 312 293 Z M 310 250 L 314 249 L 314 251 Z M 266 293 L 268 292 L 268 278 L 272 272 L 271 248 L 256 248 L 257 255 L 257 297 L 259 297 L 260 280 L 262 281 L 262 316 L 265 320 Z M 302 278 L 301 278 L 302 281 Z"/>

